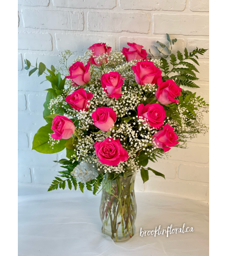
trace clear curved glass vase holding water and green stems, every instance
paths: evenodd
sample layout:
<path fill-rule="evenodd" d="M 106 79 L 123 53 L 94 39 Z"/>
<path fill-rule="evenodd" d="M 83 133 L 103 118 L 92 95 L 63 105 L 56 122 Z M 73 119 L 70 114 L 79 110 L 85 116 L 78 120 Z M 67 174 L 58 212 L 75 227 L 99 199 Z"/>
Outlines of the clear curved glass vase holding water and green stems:
<path fill-rule="evenodd" d="M 132 238 L 135 234 L 136 173 L 125 173 L 125 177 L 103 181 L 102 199 L 100 204 L 100 219 L 103 222 L 102 232 L 115 242 Z"/>

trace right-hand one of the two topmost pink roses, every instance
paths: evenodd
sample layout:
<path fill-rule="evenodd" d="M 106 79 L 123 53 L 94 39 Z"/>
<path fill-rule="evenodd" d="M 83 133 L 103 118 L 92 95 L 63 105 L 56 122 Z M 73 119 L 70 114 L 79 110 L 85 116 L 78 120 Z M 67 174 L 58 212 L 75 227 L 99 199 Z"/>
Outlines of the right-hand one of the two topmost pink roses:
<path fill-rule="evenodd" d="M 127 45 L 130 46 L 130 48 L 124 48 L 122 49 L 122 53 L 125 56 L 125 59 L 129 62 L 131 60 L 144 60 L 146 59 L 146 50 L 142 49 L 143 46 L 135 44 L 133 42 L 132 44 L 130 42 L 127 42 Z"/>

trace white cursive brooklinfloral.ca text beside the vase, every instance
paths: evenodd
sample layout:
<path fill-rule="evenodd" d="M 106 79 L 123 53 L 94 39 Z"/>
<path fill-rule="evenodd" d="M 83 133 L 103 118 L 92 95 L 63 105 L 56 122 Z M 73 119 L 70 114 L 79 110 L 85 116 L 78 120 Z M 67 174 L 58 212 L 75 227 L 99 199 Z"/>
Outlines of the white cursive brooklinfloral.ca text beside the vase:
<path fill-rule="evenodd" d="M 140 237 L 145 237 L 145 236 L 150 236 L 150 235 L 152 235 L 152 236 L 155 236 L 156 237 L 156 235 L 158 235 L 158 236 L 160 236 L 160 234 L 166 234 L 167 235 L 167 237 L 169 236 L 169 234 L 176 234 L 176 233 L 184 233 L 184 232 L 193 232 L 194 231 L 194 229 L 193 229 L 193 227 L 186 227 L 185 228 L 185 223 L 184 223 L 184 225 L 183 225 L 183 227 L 182 228 L 172 228 L 172 224 L 171 224 L 171 226 L 170 227 L 167 227 L 167 229 L 162 229 L 161 228 L 161 225 L 159 226 L 159 228 L 157 228 L 157 227 L 155 227 L 155 229 L 154 230 L 142 230 L 142 228 L 140 228 Z"/>

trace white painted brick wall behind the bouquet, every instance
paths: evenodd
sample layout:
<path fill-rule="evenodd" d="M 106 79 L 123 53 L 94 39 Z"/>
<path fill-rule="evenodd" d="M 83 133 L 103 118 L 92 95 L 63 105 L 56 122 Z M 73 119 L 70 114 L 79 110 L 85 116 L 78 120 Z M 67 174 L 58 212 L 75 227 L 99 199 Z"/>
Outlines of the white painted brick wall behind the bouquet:
<path fill-rule="evenodd" d="M 165 33 L 178 38 L 173 53 L 185 47 L 209 48 L 208 0 L 18 0 L 18 182 L 48 186 L 65 158 L 31 151 L 40 126 L 48 82 L 23 70 L 24 58 L 47 67 L 55 65 L 59 53 L 69 49 L 83 54 L 96 42 L 106 42 L 113 50 L 136 42 L 150 49 L 165 42 Z M 73 59 L 73 58 L 72 58 Z M 199 89 L 191 89 L 209 101 L 209 51 L 199 59 Z M 209 123 L 209 116 L 205 116 Z M 149 172 L 143 184 L 140 174 L 137 191 L 158 191 L 201 201 L 209 201 L 209 136 L 199 135 L 187 150 L 172 148 L 169 159 L 149 166 L 165 174 L 166 180 Z"/>

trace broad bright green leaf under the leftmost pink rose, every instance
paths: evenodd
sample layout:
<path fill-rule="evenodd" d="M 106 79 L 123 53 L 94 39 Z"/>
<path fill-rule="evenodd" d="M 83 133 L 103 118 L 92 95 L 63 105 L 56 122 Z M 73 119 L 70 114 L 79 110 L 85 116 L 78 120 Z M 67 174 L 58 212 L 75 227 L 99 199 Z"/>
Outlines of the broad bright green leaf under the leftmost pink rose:
<path fill-rule="evenodd" d="M 66 140 L 64 139 L 61 139 L 59 143 L 56 143 L 53 146 L 48 143 L 49 134 L 53 133 L 53 131 L 51 130 L 51 126 L 52 124 L 48 123 L 38 130 L 33 139 L 33 150 L 44 154 L 54 154 L 64 150 L 64 144 L 66 142 Z"/>

